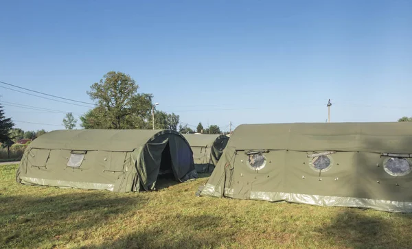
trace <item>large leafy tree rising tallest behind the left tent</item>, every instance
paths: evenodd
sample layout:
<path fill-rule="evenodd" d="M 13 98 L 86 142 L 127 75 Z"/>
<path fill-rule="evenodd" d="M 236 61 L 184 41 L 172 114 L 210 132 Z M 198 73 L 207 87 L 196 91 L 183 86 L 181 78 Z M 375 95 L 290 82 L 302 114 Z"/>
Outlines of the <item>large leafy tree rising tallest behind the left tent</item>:
<path fill-rule="evenodd" d="M 149 128 L 152 95 L 137 93 L 139 86 L 125 73 L 111 71 L 87 92 L 98 106 L 80 117 L 86 129 Z"/>

